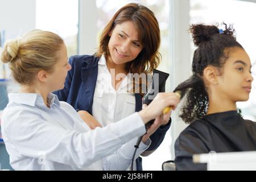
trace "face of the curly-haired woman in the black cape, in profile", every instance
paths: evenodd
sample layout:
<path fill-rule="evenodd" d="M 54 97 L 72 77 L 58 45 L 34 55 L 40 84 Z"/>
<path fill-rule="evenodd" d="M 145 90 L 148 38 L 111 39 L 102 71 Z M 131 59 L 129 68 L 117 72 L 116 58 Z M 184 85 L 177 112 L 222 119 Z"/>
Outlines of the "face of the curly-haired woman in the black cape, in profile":
<path fill-rule="evenodd" d="M 217 92 L 223 99 L 247 101 L 251 92 L 250 58 L 242 48 L 229 48 L 228 59 L 222 67 L 222 74 L 217 77 Z"/>

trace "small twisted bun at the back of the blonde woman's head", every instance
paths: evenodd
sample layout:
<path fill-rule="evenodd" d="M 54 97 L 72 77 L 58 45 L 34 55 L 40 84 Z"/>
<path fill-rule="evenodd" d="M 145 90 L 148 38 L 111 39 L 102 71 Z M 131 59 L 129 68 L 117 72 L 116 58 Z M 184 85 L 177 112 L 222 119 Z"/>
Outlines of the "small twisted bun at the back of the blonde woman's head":
<path fill-rule="evenodd" d="M 11 40 L 7 42 L 5 45 L 5 49 L 3 49 L 1 60 L 3 63 L 9 63 L 13 61 L 19 51 L 19 40 Z"/>

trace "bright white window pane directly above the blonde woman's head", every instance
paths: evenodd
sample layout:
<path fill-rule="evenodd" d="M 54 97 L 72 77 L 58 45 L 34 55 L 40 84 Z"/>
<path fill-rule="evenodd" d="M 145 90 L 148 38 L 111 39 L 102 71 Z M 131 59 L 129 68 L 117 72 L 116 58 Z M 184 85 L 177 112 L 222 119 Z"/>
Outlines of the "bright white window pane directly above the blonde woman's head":
<path fill-rule="evenodd" d="M 36 0 L 36 28 L 60 35 L 68 56 L 77 55 L 78 0 Z"/>

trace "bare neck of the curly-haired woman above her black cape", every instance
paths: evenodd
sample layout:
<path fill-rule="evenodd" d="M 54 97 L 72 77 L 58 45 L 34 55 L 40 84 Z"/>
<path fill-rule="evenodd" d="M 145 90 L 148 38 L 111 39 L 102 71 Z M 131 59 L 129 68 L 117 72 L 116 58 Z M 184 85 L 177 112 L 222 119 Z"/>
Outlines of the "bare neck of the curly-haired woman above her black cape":
<path fill-rule="evenodd" d="M 209 95 L 209 109 L 207 114 L 221 113 L 230 110 L 237 110 L 236 102 L 224 99 L 217 94 Z"/>

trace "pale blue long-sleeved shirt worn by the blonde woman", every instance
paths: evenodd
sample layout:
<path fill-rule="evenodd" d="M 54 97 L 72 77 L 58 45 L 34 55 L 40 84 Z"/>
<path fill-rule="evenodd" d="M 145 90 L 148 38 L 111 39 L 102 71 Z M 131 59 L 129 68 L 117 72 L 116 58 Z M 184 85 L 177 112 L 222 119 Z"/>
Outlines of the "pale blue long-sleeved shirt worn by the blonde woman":
<path fill-rule="evenodd" d="M 9 94 L 2 135 L 15 170 L 125 170 L 129 166 L 129 148 L 135 137 L 146 132 L 138 113 L 90 130 L 67 102 L 54 94 L 48 95 L 47 102 L 51 108 L 35 93 Z"/>

